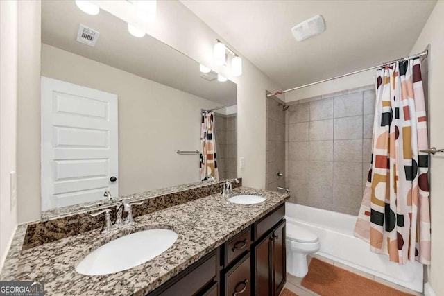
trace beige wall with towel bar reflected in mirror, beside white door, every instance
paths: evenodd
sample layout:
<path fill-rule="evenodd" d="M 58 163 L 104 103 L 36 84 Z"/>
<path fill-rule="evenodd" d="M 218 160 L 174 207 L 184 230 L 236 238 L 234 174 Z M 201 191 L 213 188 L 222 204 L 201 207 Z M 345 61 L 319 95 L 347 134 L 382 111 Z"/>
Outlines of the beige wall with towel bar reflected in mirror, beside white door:
<path fill-rule="evenodd" d="M 42 44 L 42 76 L 119 96 L 119 195 L 197 182 L 200 111 L 218 104 Z"/>

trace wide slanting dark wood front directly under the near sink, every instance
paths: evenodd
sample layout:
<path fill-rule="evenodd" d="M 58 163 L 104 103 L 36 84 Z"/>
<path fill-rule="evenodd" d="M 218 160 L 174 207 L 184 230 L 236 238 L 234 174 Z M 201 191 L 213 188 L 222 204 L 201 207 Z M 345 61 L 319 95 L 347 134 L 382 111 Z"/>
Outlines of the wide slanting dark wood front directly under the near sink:
<path fill-rule="evenodd" d="M 172 283 L 167 282 L 167 287 L 160 287 L 151 295 L 162 296 L 177 296 L 177 295 L 196 295 L 199 290 L 202 290 L 210 281 L 217 275 L 217 253 L 211 252 L 203 259 L 191 265 L 181 272 L 176 278 L 173 278 Z"/>

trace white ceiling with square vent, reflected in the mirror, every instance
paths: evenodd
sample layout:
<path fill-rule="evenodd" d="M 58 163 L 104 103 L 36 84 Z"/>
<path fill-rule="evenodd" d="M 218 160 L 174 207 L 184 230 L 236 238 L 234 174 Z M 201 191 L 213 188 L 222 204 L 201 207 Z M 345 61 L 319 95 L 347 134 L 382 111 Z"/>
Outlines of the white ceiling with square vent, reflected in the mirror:
<path fill-rule="evenodd" d="M 76 42 L 79 24 L 100 32 L 95 47 Z M 221 105 L 236 103 L 234 82 L 200 78 L 198 62 L 149 35 L 133 37 L 126 22 L 103 10 L 87 15 L 74 1 L 42 1 L 42 42 Z"/>

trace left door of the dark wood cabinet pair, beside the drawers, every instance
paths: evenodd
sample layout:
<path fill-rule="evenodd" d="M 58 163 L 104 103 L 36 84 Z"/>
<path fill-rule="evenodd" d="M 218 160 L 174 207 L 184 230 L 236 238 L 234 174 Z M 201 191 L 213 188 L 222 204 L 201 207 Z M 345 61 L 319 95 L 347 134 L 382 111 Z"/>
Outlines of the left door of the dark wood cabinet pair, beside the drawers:
<path fill-rule="evenodd" d="M 254 295 L 271 295 L 271 239 L 266 236 L 253 248 Z"/>

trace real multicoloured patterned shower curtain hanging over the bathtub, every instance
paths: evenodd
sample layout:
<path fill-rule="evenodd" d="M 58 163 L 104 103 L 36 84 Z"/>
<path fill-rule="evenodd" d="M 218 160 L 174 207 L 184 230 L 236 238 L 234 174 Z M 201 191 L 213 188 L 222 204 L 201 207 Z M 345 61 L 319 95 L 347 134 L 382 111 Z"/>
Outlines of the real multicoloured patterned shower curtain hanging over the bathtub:
<path fill-rule="evenodd" d="M 390 261 L 430 264 L 429 155 L 420 60 L 377 71 L 372 164 L 355 236 Z"/>

